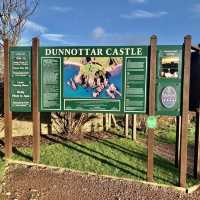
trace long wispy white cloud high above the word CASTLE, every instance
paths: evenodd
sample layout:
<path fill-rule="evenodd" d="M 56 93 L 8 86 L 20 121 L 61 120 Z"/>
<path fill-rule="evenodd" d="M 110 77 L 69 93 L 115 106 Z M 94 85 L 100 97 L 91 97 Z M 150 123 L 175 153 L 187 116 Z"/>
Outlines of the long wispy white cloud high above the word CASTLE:
<path fill-rule="evenodd" d="M 167 14 L 166 11 L 150 12 L 146 10 L 135 10 L 129 14 L 121 14 L 120 17 L 124 19 L 159 18 Z"/>

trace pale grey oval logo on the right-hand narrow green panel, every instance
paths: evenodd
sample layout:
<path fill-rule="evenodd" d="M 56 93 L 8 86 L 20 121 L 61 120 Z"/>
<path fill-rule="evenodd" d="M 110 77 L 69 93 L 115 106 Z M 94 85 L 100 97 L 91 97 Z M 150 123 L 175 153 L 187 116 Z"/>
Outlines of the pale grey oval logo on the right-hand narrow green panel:
<path fill-rule="evenodd" d="M 176 89 L 172 86 L 163 88 L 161 92 L 161 102 L 165 108 L 173 108 L 176 104 Z"/>

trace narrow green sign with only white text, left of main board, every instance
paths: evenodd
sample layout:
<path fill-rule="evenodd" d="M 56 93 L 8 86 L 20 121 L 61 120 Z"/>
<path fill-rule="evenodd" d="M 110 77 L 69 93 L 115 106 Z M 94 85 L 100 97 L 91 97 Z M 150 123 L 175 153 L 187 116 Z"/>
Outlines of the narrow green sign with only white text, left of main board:
<path fill-rule="evenodd" d="M 31 112 L 31 48 L 10 49 L 10 107 L 12 112 Z"/>

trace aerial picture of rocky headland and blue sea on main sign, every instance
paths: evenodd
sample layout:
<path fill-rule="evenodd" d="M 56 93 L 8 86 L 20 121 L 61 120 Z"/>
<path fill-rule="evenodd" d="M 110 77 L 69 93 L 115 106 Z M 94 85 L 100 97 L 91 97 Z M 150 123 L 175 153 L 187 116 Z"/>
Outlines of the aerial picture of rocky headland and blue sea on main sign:
<path fill-rule="evenodd" d="M 121 99 L 122 57 L 65 57 L 64 98 Z"/>

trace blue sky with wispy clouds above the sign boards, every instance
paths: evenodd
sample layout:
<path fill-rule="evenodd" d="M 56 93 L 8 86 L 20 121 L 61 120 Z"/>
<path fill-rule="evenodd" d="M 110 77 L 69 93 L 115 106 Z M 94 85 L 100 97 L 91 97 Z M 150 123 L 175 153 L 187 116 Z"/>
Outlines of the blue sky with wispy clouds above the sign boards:
<path fill-rule="evenodd" d="M 182 44 L 186 34 L 200 43 L 200 0 L 40 0 L 27 21 L 21 44 Z"/>

